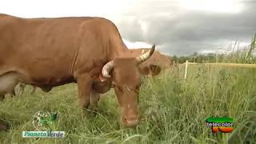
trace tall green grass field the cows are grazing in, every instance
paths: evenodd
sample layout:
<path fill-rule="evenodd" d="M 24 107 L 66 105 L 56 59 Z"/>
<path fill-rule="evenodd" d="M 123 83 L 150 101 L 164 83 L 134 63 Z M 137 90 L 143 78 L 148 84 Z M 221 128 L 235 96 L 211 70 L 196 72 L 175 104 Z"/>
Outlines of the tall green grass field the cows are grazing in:
<path fill-rule="evenodd" d="M 140 91 L 142 122 L 135 129 L 119 125 L 114 91 L 102 96 L 97 115 L 86 117 L 77 102 L 77 86 L 37 90 L 0 102 L 0 119 L 11 130 L 0 132 L 0 143 L 254 143 L 256 142 L 256 69 L 189 66 L 143 78 Z M 39 110 L 58 112 L 54 130 L 66 138 L 22 138 L 34 130 L 31 118 Z M 213 134 L 209 116 L 234 118 L 231 134 Z"/>

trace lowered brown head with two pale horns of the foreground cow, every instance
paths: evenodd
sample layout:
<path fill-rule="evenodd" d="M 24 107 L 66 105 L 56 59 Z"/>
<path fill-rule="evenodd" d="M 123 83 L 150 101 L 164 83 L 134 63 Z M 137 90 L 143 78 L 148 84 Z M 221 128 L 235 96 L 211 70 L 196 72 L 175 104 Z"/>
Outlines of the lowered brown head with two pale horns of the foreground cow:
<path fill-rule="evenodd" d="M 154 53 L 154 47 L 152 46 L 150 51 L 136 58 L 116 58 L 103 66 L 102 76 L 105 78 L 112 77 L 120 106 L 121 122 L 124 126 L 136 126 L 140 120 L 138 92 L 142 75 L 139 64 L 150 58 Z"/>

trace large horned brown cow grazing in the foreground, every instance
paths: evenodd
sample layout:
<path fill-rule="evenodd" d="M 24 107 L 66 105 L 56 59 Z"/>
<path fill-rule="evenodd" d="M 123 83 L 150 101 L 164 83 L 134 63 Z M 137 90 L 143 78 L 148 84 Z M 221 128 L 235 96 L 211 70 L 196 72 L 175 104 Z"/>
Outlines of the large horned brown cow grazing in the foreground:
<path fill-rule="evenodd" d="M 18 82 L 50 90 L 78 83 L 78 98 L 86 109 L 95 106 L 94 87 L 114 83 L 124 126 L 140 120 L 140 63 L 154 53 L 130 54 L 117 27 L 105 18 L 18 18 L 0 14 L 0 94 Z M 98 81 L 99 75 L 105 82 Z M 8 84 L 6 84 L 6 79 Z"/>

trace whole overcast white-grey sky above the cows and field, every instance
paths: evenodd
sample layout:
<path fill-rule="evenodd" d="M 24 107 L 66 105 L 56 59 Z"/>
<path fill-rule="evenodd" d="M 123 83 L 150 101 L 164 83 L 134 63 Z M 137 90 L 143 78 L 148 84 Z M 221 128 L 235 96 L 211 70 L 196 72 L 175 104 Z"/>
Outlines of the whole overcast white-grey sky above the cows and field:
<path fill-rule="evenodd" d="M 98 16 L 113 21 L 126 46 L 165 54 L 248 45 L 256 32 L 256 0 L 6 0 L 0 13 L 24 18 Z"/>

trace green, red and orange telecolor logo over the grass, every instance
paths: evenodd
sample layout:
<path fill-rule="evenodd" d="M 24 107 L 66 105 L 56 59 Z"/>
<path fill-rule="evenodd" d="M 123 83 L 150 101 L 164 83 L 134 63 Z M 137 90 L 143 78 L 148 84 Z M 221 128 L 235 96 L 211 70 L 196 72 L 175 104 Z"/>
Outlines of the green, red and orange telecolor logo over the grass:
<path fill-rule="evenodd" d="M 234 130 L 233 123 L 233 118 L 206 118 L 206 125 L 211 128 L 213 133 L 217 133 L 218 130 L 222 133 L 231 133 Z"/>

